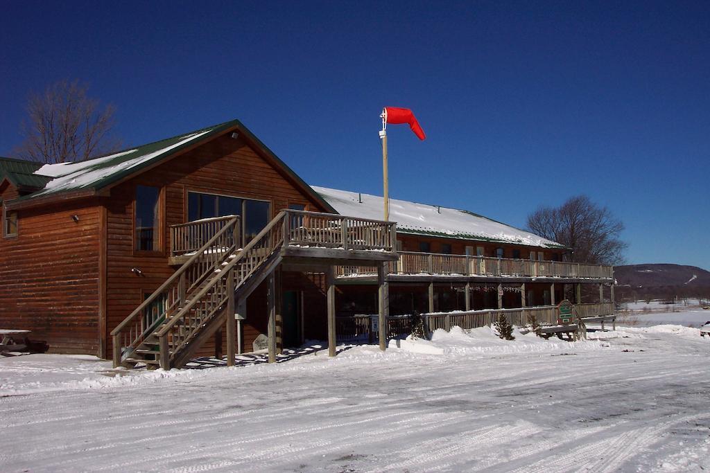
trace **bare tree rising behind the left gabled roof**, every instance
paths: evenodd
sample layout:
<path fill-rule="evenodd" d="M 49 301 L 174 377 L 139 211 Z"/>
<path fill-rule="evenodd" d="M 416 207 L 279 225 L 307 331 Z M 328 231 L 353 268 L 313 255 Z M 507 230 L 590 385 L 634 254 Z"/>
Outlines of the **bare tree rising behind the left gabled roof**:
<path fill-rule="evenodd" d="M 114 106 L 101 108 L 86 85 L 63 80 L 30 95 L 16 154 L 39 162 L 87 160 L 120 148 L 113 126 Z"/>

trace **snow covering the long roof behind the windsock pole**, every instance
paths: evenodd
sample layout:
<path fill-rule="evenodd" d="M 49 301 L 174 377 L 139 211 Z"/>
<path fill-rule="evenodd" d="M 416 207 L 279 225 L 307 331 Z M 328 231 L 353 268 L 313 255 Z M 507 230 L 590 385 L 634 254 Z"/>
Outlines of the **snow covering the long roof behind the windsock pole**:
<path fill-rule="evenodd" d="M 383 219 L 384 202 L 380 196 L 311 187 L 342 215 Z M 397 222 L 397 230 L 401 233 L 519 243 L 543 248 L 564 247 L 525 230 L 457 208 L 390 199 L 390 220 Z"/>

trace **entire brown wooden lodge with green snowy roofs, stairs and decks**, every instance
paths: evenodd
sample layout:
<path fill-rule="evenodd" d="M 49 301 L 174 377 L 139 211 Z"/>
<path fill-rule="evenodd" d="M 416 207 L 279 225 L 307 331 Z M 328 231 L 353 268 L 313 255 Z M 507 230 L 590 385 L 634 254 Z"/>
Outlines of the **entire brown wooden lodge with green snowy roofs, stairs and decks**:
<path fill-rule="evenodd" d="M 381 221 L 381 197 L 310 187 L 239 121 L 84 162 L 0 158 L 0 202 L 0 328 L 116 365 L 273 361 L 307 339 L 334 355 L 354 328 L 384 349 L 417 312 L 612 308 L 613 268 L 453 208 L 393 200 Z"/>

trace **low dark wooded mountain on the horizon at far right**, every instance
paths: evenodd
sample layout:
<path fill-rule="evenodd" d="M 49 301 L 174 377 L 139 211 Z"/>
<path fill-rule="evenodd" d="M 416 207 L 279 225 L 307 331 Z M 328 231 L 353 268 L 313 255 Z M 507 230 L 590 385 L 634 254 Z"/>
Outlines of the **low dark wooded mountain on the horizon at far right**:
<path fill-rule="evenodd" d="M 615 266 L 617 284 L 646 289 L 673 286 L 679 289 L 710 286 L 710 271 L 697 266 L 682 265 L 627 265 Z"/>

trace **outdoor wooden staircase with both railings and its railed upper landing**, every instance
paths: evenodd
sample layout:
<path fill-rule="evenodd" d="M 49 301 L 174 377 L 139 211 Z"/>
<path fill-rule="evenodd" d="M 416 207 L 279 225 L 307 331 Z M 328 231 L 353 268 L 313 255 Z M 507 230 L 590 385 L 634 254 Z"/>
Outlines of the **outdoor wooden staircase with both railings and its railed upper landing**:
<path fill-rule="evenodd" d="M 281 211 L 243 248 L 239 217 L 221 228 L 178 271 L 111 331 L 114 367 L 182 367 L 284 257 L 396 258 L 394 224 L 332 214 Z M 234 314 L 231 314 L 234 316 Z"/>

